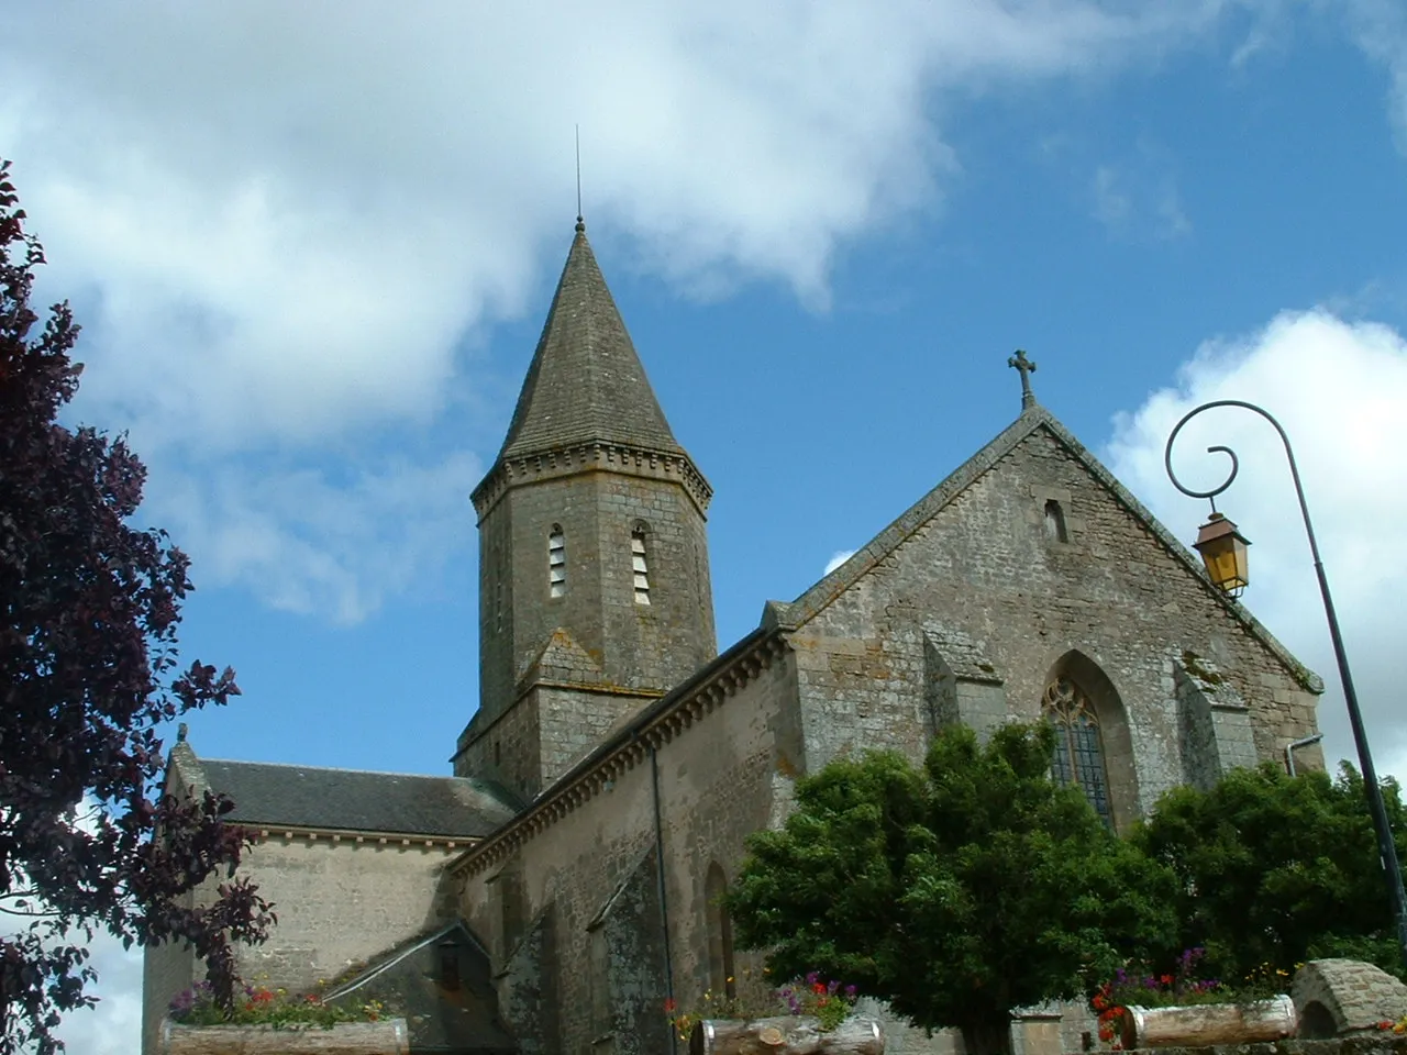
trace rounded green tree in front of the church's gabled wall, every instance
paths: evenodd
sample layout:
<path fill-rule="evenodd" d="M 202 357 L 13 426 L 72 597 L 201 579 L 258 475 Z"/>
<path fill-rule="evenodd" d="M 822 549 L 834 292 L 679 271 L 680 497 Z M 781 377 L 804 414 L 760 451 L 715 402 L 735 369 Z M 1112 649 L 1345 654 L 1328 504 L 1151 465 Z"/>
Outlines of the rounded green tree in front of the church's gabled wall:
<path fill-rule="evenodd" d="M 961 1027 L 969 1051 L 1005 1049 L 1014 1007 L 1166 955 L 1173 874 L 1051 781 L 1054 743 L 1045 723 L 985 747 L 953 727 L 922 768 L 874 753 L 802 779 L 726 897 L 740 942 L 777 978 L 819 971 Z"/>

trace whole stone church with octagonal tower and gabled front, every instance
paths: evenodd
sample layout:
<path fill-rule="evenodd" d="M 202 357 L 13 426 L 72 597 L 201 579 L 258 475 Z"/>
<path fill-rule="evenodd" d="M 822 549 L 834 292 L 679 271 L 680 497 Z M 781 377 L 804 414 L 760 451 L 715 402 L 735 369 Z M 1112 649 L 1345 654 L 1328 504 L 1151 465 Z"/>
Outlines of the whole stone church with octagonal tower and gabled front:
<path fill-rule="evenodd" d="M 172 751 L 167 788 L 229 793 L 257 838 L 245 868 L 279 926 L 243 951 L 246 978 L 388 999 L 419 1052 L 668 1052 L 666 997 L 760 964 L 718 904 L 744 837 L 837 755 L 919 760 L 947 723 L 1044 715 L 1064 731 L 1054 772 L 1120 830 L 1316 731 L 1318 678 L 1029 388 L 991 443 L 722 653 L 709 498 L 578 218 L 473 492 L 480 706 L 453 776 Z M 189 952 L 148 952 L 146 1051 L 196 978 Z"/>

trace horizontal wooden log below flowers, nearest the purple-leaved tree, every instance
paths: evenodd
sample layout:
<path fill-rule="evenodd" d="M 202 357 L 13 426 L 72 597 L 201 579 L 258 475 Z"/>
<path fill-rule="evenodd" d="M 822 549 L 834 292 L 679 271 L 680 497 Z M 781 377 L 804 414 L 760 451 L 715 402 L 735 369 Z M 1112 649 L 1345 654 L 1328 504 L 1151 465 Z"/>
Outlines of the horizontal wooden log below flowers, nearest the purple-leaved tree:
<path fill-rule="evenodd" d="M 318 1025 L 162 1025 L 163 1055 L 407 1055 L 404 1018 Z"/>

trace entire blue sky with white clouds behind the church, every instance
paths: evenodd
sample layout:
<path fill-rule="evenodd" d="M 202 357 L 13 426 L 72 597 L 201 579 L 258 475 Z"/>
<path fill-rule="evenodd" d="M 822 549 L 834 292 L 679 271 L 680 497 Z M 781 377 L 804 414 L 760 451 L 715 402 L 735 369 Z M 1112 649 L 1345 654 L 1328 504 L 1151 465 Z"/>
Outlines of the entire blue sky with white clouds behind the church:
<path fill-rule="evenodd" d="M 1026 347 L 1038 398 L 1185 539 L 1180 412 L 1282 418 L 1380 768 L 1407 776 L 1400 4 L 7 17 L 0 152 L 41 293 L 86 325 L 75 418 L 131 432 L 145 512 L 194 558 L 184 653 L 245 689 L 190 719 L 197 753 L 446 771 L 477 693 L 469 491 L 570 243 L 580 124 L 588 234 L 715 488 L 722 646 L 996 435 Z M 1245 602 L 1325 675 L 1338 757 L 1266 432 L 1225 416 L 1202 446 L 1241 453 Z M 1179 464 L 1210 480 L 1196 440 Z"/>

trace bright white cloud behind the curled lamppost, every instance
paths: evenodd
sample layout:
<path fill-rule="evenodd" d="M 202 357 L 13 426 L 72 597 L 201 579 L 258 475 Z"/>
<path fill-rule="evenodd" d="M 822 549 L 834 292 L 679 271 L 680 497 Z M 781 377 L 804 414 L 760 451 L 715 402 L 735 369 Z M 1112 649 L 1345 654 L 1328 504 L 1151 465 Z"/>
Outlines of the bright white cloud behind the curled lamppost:
<path fill-rule="evenodd" d="M 1109 464 L 1185 540 L 1204 502 L 1179 495 L 1164 471 L 1178 419 L 1209 399 L 1259 404 L 1285 426 L 1299 461 L 1320 551 L 1334 591 L 1359 702 L 1380 772 L 1407 779 L 1407 719 L 1399 706 L 1400 627 L 1407 625 L 1407 470 L 1397 443 L 1407 407 L 1407 342 L 1387 326 L 1327 312 L 1286 312 L 1255 333 L 1214 340 L 1155 392 L 1116 421 Z M 1240 474 L 1217 506 L 1251 539 L 1252 585 L 1244 603 L 1324 677 L 1318 719 L 1328 758 L 1356 760 L 1330 647 L 1313 561 L 1283 449 L 1272 426 L 1242 409 L 1200 415 L 1178 437 L 1173 467 L 1195 490 Z M 1356 761 L 1355 761 L 1356 764 Z"/>

